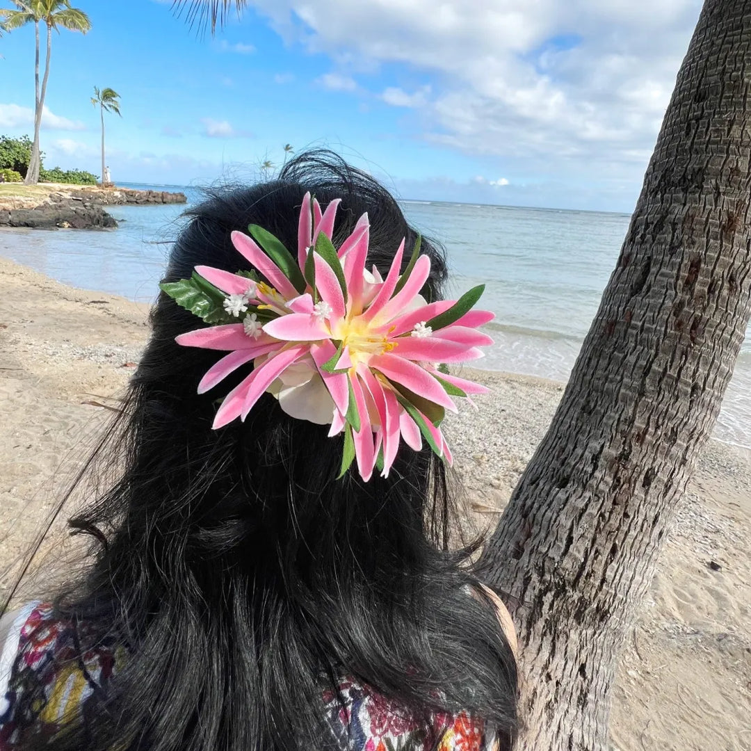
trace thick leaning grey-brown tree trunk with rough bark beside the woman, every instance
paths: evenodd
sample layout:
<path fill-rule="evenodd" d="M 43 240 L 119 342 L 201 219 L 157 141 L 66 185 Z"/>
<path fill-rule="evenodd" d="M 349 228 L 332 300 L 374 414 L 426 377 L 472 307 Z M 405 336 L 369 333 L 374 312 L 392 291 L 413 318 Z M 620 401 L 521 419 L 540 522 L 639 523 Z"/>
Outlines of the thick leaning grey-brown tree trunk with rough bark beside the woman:
<path fill-rule="evenodd" d="M 523 749 L 599 751 L 627 629 L 751 313 L 751 3 L 706 0 L 617 267 L 484 553 L 523 643 Z"/>

